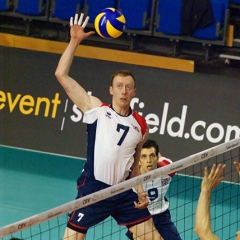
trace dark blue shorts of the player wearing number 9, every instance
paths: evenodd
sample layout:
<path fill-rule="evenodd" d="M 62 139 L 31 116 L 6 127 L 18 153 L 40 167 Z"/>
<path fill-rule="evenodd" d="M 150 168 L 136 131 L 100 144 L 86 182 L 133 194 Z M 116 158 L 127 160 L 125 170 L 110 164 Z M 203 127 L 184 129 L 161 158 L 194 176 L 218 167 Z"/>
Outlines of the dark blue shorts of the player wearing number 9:
<path fill-rule="evenodd" d="M 170 211 L 167 209 L 160 214 L 152 215 L 154 225 L 164 240 L 181 240 L 180 234 L 171 220 Z M 133 240 L 132 234 L 128 231 L 126 236 Z"/>

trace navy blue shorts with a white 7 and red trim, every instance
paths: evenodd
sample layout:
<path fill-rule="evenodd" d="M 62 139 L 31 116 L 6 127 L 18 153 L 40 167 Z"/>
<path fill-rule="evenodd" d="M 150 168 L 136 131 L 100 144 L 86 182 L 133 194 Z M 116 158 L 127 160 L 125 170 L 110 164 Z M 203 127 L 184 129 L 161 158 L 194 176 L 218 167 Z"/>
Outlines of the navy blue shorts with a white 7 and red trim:
<path fill-rule="evenodd" d="M 81 175 L 78 179 L 78 196 L 84 197 L 93 192 L 109 187 L 109 185 L 89 179 Z M 67 227 L 76 232 L 87 233 L 87 230 L 112 216 L 118 225 L 131 227 L 142 223 L 152 216 L 148 209 L 138 209 L 134 206 L 138 201 L 138 195 L 132 190 L 127 190 L 105 200 L 96 202 L 84 208 L 73 211 L 70 215 Z"/>

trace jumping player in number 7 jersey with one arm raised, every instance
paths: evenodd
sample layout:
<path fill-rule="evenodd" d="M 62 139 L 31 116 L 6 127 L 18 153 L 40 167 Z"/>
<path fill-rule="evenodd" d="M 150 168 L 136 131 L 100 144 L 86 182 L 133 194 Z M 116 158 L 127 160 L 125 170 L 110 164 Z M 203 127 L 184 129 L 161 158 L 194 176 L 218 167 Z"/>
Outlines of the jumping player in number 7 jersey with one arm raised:
<path fill-rule="evenodd" d="M 84 113 L 87 123 L 87 162 L 77 180 L 77 198 L 138 176 L 140 151 L 148 135 L 146 120 L 130 108 L 136 94 L 136 81 L 131 72 L 119 71 L 112 77 L 111 104 L 88 95 L 69 76 L 76 49 L 94 33 L 84 32 L 88 18 L 82 20 L 82 14 L 80 18 L 78 15 L 74 20 L 71 18 L 71 39 L 55 72 L 69 98 Z M 109 216 L 119 225 L 127 226 L 140 240 L 162 239 L 147 209 L 147 194 L 141 185 L 136 190 L 137 194 L 130 189 L 72 212 L 64 239 L 84 239 L 91 226 Z"/>

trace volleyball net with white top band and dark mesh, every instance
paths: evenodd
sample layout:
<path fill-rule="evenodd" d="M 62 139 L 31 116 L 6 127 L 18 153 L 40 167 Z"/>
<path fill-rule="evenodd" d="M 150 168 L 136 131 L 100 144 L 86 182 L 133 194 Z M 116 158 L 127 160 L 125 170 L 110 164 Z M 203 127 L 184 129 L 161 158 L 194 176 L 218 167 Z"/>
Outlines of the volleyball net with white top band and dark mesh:
<path fill-rule="evenodd" d="M 235 161 L 240 161 L 239 151 L 240 138 L 219 144 L 99 192 L 1 227 L 0 239 L 60 240 L 63 237 L 68 221 L 68 214 L 72 211 L 173 172 L 176 172 L 176 174 L 166 195 L 170 202 L 169 210 L 172 221 L 176 225 L 182 239 L 198 239 L 193 228 L 203 170 L 205 166 L 210 168 L 213 164 L 218 163 L 226 164 L 226 168 L 224 182 L 212 194 L 212 229 L 221 239 L 232 239 L 236 231 L 240 229 L 240 218 L 238 216 L 240 204 L 238 173 L 233 164 Z M 122 240 L 127 239 L 126 232 L 126 227 L 118 226 L 109 217 L 90 228 L 86 239 Z"/>

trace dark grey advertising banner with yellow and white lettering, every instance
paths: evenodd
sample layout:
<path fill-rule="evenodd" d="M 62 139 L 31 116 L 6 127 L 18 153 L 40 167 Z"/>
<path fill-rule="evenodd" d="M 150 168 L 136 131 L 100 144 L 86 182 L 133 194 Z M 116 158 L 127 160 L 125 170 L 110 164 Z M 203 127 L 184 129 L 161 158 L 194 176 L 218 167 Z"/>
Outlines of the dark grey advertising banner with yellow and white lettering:
<path fill-rule="evenodd" d="M 85 158 L 83 114 L 55 78 L 59 54 L 0 47 L 0 144 Z M 131 102 L 162 155 L 177 161 L 239 137 L 240 81 L 75 57 L 70 76 L 110 103 L 110 77 L 129 69 Z M 107 153 L 106 153 L 107 154 Z"/>

